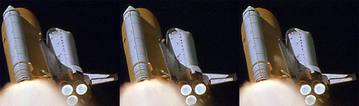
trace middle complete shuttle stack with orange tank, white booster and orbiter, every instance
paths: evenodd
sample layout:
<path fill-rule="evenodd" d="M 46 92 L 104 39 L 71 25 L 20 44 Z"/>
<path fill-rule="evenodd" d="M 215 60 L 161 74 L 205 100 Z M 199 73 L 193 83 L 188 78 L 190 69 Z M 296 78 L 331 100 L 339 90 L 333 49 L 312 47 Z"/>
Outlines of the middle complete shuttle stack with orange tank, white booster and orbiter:
<path fill-rule="evenodd" d="M 147 9 L 126 9 L 122 41 L 131 82 L 167 79 L 181 87 L 187 105 L 207 102 L 210 85 L 237 80 L 236 74 L 202 73 L 191 33 L 171 28 L 163 39 L 157 18 Z"/>

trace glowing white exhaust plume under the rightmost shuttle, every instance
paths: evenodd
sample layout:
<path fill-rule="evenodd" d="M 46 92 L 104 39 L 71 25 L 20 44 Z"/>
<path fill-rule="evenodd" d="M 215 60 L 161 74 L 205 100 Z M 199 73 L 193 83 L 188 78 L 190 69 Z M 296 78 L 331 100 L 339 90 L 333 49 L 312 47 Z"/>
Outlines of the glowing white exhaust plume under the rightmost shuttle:
<path fill-rule="evenodd" d="M 308 106 L 304 100 L 292 80 L 262 80 L 239 89 L 240 106 Z"/>

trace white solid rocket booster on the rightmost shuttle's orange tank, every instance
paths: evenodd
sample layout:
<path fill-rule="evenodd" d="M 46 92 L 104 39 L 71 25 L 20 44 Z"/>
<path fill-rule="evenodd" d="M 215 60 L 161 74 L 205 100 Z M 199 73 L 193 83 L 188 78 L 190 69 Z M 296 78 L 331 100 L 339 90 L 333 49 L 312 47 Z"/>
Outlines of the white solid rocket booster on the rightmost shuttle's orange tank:
<path fill-rule="evenodd" d="M 267 52 L 258 11 L 251 6 L 243 12 L 244 29 L 256 82 L 269 79 Z"/>

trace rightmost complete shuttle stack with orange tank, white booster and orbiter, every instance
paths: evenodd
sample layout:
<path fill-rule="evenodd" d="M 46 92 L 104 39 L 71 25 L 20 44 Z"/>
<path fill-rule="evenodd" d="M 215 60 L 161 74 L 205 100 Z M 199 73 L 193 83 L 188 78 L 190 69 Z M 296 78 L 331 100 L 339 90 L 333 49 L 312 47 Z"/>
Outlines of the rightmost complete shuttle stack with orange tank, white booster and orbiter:
<path fill-rule="evenodd" d="M 251 82 L 271 77 L 290 78 L 300 85 L 307 105 L 326 102 L 328 85 L 356 80 L 355 74 L 322 74 L 318 68 L 312 35 L 289 29 L 282 41 L 278 20 L 262 8 L 243 12 L 242 42 Z"/>

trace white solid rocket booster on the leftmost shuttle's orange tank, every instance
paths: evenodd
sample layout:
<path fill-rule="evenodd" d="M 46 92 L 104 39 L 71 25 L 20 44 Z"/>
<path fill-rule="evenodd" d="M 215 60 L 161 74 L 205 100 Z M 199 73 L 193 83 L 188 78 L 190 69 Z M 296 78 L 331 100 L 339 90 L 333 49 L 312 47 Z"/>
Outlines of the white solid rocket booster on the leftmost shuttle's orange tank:
<path fill-rule="evenodd" d="M 32 75 L 28 64 L 29 59 L 20 13 L 10 5 L 5 10 L 3 17 L 15 79 L 17 82 L 25 79 L 31 80 Z"/>

